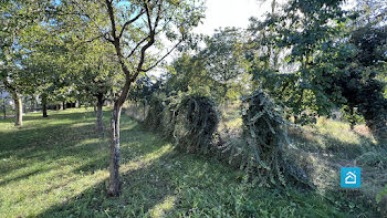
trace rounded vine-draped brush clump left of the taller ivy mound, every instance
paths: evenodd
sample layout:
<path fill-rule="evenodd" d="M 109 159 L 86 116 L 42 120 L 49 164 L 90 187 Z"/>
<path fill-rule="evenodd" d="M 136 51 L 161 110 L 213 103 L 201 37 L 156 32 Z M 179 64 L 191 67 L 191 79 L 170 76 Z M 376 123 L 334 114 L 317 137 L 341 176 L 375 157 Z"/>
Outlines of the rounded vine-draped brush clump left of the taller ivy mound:
<path fill-rule="evenodd" d="M 178 149 L 201 154 L 210 152 L 218 123 L 217 107 L 209 97 L 181 93 L 165 101 L 155 95 L 145 120 L 145 125 L 171 137 Z"/>

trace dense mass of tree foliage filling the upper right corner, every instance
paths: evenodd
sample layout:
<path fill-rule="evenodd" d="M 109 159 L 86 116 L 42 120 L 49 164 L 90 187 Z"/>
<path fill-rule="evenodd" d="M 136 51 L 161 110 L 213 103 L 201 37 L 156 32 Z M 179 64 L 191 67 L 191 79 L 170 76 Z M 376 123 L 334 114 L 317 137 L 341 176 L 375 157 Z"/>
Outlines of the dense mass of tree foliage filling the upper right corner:
<path fill-rule="evenodd" d="M 252 20 L 251 73 L 296 123 L 315 122 L 317 115 L 330 116 L 338 107 L 353 125 L 364 118 L 379 137 L 387 114 L 381 82 L 387 60 L 385 4 L 375 1 L 380 8 L 369 11 L 373 2 L 363 2 L 365 11 L 356 8 L 349 13 L 342 3 L 274 3 L 265 21 Z"/>

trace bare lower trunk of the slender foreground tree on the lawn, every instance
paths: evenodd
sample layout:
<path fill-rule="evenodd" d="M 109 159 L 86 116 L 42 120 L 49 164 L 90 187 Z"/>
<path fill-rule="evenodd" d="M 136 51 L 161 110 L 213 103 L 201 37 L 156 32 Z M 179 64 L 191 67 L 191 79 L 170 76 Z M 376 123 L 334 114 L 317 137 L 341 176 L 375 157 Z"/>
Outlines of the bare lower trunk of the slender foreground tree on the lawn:
<path fill-rule="evenodd" d="M 111 164 L 109 164 L 109 188 L 108 193 L 112 196 L 119 195 L 119 117 L 122 104 L 114 103 L 112 113 L 112 144 L 111 144 Z"/>

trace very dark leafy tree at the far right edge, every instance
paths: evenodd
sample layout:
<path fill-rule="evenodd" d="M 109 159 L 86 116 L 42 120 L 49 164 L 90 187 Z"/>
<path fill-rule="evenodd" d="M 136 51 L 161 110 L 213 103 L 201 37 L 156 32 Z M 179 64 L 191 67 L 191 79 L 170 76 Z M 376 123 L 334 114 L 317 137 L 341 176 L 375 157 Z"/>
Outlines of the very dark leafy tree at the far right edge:
<path fill-rule="evenodd" d="M 349 43 L 354 55 L 343 60 L 347 74 L 336 77 L 333 84 L 341 87 L 352 117 L 357 110 L 366 125 L 376 135 L 386 133 L 387 98 L 384 96 L 387 68 L 387 27 L 372 25 L 356 29 Z"/>

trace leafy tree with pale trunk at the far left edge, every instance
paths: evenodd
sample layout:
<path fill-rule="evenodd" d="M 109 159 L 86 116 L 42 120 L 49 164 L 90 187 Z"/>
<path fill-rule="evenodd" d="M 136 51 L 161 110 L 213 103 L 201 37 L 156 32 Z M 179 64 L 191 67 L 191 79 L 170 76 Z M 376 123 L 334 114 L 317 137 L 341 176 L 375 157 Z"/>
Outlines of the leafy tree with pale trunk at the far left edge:
<path fill-rule="evenodd" d="M 0 81 L 12 95 L 15 105 L 15 125 L 22 125 L 21 95 L 29 86 L 29 75 L 21 61 L 29 53 L 20 44 L 22 38 L 42 20 L 44 11 L 51 9 L 50 1 L 1 1 L 0 2 Z"/>

